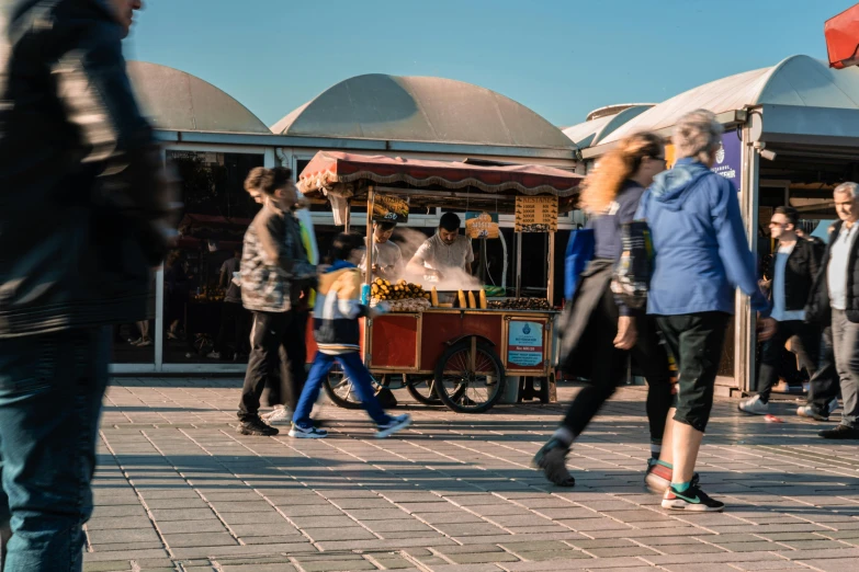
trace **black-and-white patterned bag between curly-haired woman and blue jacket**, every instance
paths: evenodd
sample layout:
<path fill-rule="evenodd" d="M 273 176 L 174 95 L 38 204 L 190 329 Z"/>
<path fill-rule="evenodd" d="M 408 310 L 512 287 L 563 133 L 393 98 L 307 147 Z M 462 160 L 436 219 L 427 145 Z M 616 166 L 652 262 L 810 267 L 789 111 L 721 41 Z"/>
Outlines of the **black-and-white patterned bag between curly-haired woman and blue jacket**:
<path fill-rule="evenodd" d="M 644 220 L 622 225 L 621 258 L 611 278 L 611 291 L 633 309 L 647 306 L 647 290 L 653 275 L 651 227 Z"/>

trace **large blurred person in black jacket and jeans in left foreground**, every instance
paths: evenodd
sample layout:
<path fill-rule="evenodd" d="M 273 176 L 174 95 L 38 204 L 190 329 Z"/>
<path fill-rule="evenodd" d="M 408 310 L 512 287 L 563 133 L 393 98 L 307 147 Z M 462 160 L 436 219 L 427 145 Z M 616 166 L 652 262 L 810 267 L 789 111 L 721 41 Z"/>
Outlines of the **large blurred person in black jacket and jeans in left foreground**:
<path fill-rule="evenodd" d="M 0 547 L 8 571 L 80 571 L 111 324 L 152 318 L 173 230 L 122 38 L 139 0 L 0 11 Z M 11 534 L 11 538 L 10 538 Z"/>

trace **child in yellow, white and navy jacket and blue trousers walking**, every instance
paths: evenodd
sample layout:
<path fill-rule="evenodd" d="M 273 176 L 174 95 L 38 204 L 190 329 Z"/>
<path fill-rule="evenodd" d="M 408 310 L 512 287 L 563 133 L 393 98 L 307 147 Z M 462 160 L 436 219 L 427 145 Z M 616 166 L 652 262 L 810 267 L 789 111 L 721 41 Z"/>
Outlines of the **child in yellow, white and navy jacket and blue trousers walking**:
<path fill-rule="evenodd" d="M 335 362 L 343 368 L 364 411 L 376 423 L 376 437 L 387 437 L 411 424 L 408 414 L 392 416 L 385 413 L 373 393 L 373 378 L 361 361 L 359 318 L 372 319 L 384 312 L 384 306 L 371 309 L 361 304 L 362 281 L 358 264 L 363 255 L 362 245 L 363 239 L 358 234 L 338 234 L 331 247 L 332 263 L 319 276 L 314 308 L 318 351 L 293 414 L 291 437 L 328 436 L 327 431 L 314 426 L 310 411 Z"/>

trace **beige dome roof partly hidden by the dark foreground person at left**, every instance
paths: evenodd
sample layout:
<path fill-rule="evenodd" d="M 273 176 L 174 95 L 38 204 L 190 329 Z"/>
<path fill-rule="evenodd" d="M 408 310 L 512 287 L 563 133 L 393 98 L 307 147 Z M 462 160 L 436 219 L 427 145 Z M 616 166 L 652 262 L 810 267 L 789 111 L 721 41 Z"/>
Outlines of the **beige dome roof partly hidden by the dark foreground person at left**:
<path fill-rule="evenodd" d="M 247 107 L 195 76 L 146 61 L 128 61 L 128 76 L 158 129 L 271 134 Z"/>

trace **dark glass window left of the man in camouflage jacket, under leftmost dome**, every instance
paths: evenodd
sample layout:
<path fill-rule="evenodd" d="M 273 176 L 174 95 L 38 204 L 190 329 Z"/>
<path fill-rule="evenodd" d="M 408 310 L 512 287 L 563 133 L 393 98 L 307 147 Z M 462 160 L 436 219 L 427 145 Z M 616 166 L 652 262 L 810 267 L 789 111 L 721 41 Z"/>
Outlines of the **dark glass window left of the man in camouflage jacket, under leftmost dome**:
<path fill-rule="evenodd" d="M 168 151 L 182 178 L 179 243 L 165 263 L 166 364 L 247 363 L 250 316 L 233 284 L 259 205 L 245 191 L 262 155 Z"/>

